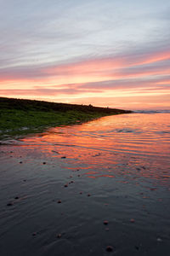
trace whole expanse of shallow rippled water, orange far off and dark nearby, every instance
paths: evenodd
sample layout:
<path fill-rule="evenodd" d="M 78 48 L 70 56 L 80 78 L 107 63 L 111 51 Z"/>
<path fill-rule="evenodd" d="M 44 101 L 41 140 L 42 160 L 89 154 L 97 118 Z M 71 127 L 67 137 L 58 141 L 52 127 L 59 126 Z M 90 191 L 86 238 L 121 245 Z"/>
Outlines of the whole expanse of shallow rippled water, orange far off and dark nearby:
<path fill-rule="evenodd" d="M 0 150 L 1 255 L 169 255 L 170 113 L 56 127 Z"/>

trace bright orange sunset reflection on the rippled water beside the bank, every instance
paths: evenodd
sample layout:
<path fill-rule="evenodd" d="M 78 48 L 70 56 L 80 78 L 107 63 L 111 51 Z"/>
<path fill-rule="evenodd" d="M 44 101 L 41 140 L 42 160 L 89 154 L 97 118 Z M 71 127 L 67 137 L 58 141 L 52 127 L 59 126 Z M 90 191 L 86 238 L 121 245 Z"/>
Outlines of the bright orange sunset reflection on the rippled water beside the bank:
<path fill-rule="evenodd" d="M 170 114 L 133 113 L 56 127 L 18 144 L 40 157 L 66 157 L 88 177 L 150 177 L 169 183 Z M 29 154 L 26 151 L 26 154 Z"/>

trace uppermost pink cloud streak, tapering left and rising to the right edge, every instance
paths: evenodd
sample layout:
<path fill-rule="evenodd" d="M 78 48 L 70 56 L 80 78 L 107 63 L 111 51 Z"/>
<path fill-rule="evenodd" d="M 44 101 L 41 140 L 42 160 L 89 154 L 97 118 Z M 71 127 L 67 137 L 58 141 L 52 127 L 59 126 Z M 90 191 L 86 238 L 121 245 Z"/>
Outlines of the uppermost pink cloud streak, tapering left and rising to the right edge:
<path fill-rule="evenodd" d="M 120 55 L 110 56 L 86 61 L 77 61 L 73 63 L 57 65 L 54 67 L 44 68 L 43 72 L 56 76 L 80 76 L 86 74 L 88 76 L 105 76 L 111 70 L 121 70 L 127 67 L 139 67 L 141 65 L 155 63 L 157 61 L 170 60 L 170 50 L 153 52 L 150 54 L 140 55 Z"/>

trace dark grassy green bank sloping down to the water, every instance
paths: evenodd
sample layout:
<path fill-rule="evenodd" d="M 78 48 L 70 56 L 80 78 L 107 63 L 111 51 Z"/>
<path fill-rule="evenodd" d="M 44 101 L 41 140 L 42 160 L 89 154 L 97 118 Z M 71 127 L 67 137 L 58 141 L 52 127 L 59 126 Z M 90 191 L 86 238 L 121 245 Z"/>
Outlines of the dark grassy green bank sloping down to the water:
<path fill-rule="evenodd" d="M 43 131 L 49 126 L 82 123 L 119 113 L 129 111 L 0 97 L 0 138 Z"/>

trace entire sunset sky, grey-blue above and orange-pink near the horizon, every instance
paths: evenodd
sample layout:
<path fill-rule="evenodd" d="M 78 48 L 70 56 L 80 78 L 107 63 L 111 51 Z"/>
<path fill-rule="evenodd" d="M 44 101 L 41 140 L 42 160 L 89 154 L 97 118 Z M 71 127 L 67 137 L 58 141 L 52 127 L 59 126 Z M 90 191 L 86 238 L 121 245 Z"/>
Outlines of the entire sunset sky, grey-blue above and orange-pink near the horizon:
<path fill-rule="evenodd" d="M 170 109 L 169 0 L 0 0 L 0 96 Z"/>

